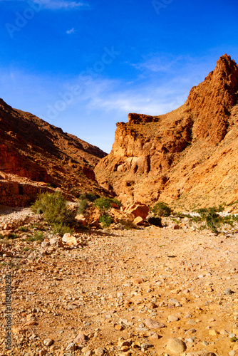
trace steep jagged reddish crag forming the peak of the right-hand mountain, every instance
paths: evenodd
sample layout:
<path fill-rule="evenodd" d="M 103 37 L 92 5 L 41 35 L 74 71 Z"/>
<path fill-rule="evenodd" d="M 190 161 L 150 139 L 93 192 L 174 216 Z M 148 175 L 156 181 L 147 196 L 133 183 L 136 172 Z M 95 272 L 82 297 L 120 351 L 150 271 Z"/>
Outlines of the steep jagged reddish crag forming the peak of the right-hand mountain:
<path fill-rule="evenodd" d="M 238 67 L 227 55 L 217 61 L 205 81 L 193 87 L 187 107 L 194 115 L 193 133 L 212 144 L 219 143 L 227 134 L 230 110 L 237 100 Z"/>

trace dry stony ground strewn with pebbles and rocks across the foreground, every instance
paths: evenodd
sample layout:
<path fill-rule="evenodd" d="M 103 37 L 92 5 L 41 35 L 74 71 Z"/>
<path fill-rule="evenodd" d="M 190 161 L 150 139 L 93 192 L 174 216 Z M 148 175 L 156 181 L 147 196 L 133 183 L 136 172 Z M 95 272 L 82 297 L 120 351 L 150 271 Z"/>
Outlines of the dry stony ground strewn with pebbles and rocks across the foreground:
<path fill-rule="evenodd" d="M 1 229 L 16 214 L 29 230 L 0 245 L 0 355 L 238 355 L 236 232 L 95 230 L 68 246 L 26 241 L 42 224 L 27 209 L 1 211 Z"/>

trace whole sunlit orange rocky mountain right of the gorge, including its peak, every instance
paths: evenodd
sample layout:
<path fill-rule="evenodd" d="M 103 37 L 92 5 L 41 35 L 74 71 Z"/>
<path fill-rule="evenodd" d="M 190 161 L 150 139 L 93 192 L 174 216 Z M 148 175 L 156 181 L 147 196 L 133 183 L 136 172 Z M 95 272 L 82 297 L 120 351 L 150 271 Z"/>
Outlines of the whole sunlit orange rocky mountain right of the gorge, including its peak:
<path fill-rule="evenodd" d="M 96 179 L 124 202 L 194 208 L 237 199 L 237 91 L 238 66 L 224 55 L 177 110 L 119 122 Z"/>

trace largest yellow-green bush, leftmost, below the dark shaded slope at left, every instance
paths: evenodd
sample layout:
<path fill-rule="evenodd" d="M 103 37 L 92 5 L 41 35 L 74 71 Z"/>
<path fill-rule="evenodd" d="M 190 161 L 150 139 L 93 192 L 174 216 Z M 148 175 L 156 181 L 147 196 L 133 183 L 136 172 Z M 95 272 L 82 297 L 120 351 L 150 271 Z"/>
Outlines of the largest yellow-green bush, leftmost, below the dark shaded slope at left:
<path fill-rule="evenodd" d="M 60 192 L 40 194 L 31 205 L 31 211 L 43 214 L 48 224 L 68 224 L 70 220 L 66 199 Z"/>

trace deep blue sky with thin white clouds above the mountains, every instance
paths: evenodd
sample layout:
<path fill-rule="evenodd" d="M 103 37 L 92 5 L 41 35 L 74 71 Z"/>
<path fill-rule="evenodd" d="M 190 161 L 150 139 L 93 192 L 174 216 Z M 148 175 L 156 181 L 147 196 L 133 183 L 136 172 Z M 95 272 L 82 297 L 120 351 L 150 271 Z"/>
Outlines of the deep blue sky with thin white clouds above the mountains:
<path fill-rule="evenodd" d="M 129 112 L 185 103 L 238 62 L 237 0 L 0 0 L 0 97 L 110 152 Z"/>

